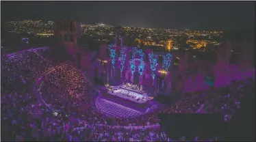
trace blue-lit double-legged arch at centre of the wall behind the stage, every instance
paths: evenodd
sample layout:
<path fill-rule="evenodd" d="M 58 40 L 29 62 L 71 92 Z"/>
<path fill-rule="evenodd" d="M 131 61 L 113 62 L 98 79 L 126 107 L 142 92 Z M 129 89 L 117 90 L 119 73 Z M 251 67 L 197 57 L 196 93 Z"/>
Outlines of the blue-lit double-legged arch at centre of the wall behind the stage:
<path fill-rule="evenodd" d="M 144 61 L 143 61 L 144 53 L 142 49 L 138 49 L 137 47 L 132 48 L 131 73 L 133 74 L 135 72 L 136 66 L 135 66 L 134 59 L 135 59 L 136 53 L 140 54 L 140 65 L 139 65 L 138 71 L 140 72 L 140 75 L 142 75 L 144 71 Z"/>

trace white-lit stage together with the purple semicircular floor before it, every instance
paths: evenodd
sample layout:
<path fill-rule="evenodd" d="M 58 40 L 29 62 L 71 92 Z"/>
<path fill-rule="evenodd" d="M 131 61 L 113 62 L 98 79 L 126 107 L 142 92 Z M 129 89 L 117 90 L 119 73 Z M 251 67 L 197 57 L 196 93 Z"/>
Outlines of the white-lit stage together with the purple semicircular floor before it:
<path fill-rule="evenodd" d="M 153 98 L 136 85 L 107 86 L 107 89 L 97 98 L 96 106 L 108 117 L 136 117 L 157 108 L 149 101 Z"/>

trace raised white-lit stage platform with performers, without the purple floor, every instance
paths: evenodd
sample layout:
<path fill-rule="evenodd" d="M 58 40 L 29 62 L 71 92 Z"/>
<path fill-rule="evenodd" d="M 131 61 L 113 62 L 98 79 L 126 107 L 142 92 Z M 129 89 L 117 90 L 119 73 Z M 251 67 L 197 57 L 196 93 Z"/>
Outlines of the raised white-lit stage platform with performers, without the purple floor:
<path fill-rule="evenodd" d="M 112 87 L 112 89 L 107 91 L 107 93 L 140 104 L 150 100 L 145 91 L 131 87 L 130 85 L 119 85 Z"/>

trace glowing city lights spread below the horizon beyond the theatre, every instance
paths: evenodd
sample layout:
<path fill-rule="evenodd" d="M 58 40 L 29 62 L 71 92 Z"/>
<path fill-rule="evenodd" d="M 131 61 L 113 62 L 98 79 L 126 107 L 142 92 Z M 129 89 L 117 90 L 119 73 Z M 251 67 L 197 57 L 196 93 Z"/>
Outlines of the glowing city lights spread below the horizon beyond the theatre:
<path fill-rule="evenodd" d="M 55 23 L 53 21 L 43 20 L 7 21 L 5 22 L 4 29 L 11 33 L 29 33 L 40 37 L 49 37 L 54 35 Z M 118 35 L 119 32 L 127 35 L 125 41 L 131 40 L 131 36 L 134 37 L 134 35 L 138 35 L 135 40 L 133 39 L 133 41 L 131 41 L 131 44 L 138 44 L 138 47 L 151 46 L 164 48 L 166 51 L 183 48 L 183 45 L 179 43 L 180 40 L 177 37 L 183 37 L 184 34 L 190 38 L 196 38 L 196 36 L 209 36 L 209 39 L 214 39 L 214 37 L 222 36 L 222 31 L 182 31 L 177 29 L 155 29 L 144 27 L 122 27 L 120 28 L 120 31 L 116 31 L 114 26 L 105 25 L 103 23 L 81 25 L 81 35 L 88 35 L 98 42 L 111 42 L 112 39 L 114 39 L 113 46 L 116 46 L 120 39 L 120 47 L 122 47 L 123 44 L 127 43 L 124 43 L 123 38 Z M 208 44 L 214 44 L 214 46 L 220 45 L 219 42 L 212 40 L 194 39 L 188 39 L 186 44 L 190 44 L 190 48 L 194 49 L 203 49 Z M 185 48 L 185 50 L 188 50 L 188 48 Z"/>

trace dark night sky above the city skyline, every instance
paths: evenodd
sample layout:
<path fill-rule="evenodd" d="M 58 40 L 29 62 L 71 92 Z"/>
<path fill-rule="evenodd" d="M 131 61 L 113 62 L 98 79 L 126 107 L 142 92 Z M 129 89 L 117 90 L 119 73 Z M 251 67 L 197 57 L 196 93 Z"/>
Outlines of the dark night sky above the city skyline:
<path fill-rule="evenodd" d="M 74 18 L 83 24 L 255 30 L 254 1 L 1 1 L 1 20 Z"/>

